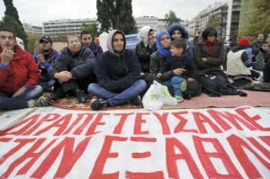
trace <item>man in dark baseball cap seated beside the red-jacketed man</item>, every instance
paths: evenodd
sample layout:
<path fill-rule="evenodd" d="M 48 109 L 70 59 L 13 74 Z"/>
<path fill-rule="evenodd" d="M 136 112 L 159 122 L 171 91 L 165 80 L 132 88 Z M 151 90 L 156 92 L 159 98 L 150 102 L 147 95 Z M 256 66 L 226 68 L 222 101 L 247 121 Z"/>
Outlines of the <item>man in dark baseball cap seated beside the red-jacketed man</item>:
<path fill-rule="evenodd" d="M 40 85 L 45 92 L 52 92 L 52 86 L 55 84 L 55 79 L 48 75 L 50 64 L 58 58 L 60 53 L 56 49 L 52 49 L 52 40 L 49 36 L 42 36 L 39 40 L 40 50 L 33 55 L 35 61 L 40 68 L 41 78 Z"/>

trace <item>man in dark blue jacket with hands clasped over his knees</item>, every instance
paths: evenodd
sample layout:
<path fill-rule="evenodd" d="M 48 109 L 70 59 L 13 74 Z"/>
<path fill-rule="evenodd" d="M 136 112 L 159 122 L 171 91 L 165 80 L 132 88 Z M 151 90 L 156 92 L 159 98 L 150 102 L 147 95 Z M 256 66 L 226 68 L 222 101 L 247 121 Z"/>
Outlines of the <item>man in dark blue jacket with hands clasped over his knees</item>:
<path fill-rule="evenodd" d="M 49 95 L 51 102 L 76 94 L 79 103 L 88 102 L 87 86 L 96 81 L 94 76 L 95 58 L 91 49 L 82 46 L 76 35 L 67 37 L 67 48 L 49 67 L 49 76 L 56 79 L 56 91 Z"/>

